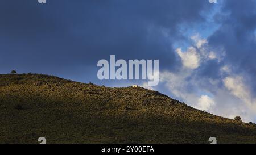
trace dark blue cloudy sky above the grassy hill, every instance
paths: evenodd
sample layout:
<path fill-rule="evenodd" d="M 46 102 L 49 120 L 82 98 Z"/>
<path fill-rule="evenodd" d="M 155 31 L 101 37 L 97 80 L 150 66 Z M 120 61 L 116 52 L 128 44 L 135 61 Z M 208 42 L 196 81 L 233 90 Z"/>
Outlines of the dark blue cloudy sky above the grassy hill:
<path fill-rule="evenodd" d="M 0 2 L 0 73 L 138 84 L 201 110 L 255 121 L 254 0 Z M 159 85 L 99 81 L 97 61 L 110 55 L 159 59 Z"/>

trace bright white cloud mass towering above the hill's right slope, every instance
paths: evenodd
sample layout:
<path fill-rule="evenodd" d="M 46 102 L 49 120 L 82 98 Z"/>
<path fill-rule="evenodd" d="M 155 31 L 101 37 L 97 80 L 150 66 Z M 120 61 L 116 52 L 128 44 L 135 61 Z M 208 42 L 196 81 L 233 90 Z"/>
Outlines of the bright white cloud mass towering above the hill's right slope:
<path fill-rule="evenodd" d="M 232 65 L 226 64 L 219 68 L 217 79 L 199 76 L 194 69 L 210 60 L 223 61 L 225 51 L 218 48 L 218 52 L 214 52 L 200 35 L 191 39 L 195 43 L 187 51 L 176 49 L 183 66 L 178 72 L 161 72 L 160 82 L 164 83 L 172 97 L 191 107 L 230 119 L 241 116 L 245 122 L 255 122 L 256 98 L 243 79 L 245 75 L 234 74 Z"/>

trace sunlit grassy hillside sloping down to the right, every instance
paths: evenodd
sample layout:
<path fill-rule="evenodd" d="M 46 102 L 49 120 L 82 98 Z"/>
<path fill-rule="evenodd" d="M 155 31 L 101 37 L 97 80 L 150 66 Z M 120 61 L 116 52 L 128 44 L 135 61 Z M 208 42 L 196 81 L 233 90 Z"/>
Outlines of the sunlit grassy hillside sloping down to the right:
<path fill-rule="evenodd" d="M 0 75 L 0 143 L 256 143 L 256 126 L 141 87 Z"/>

